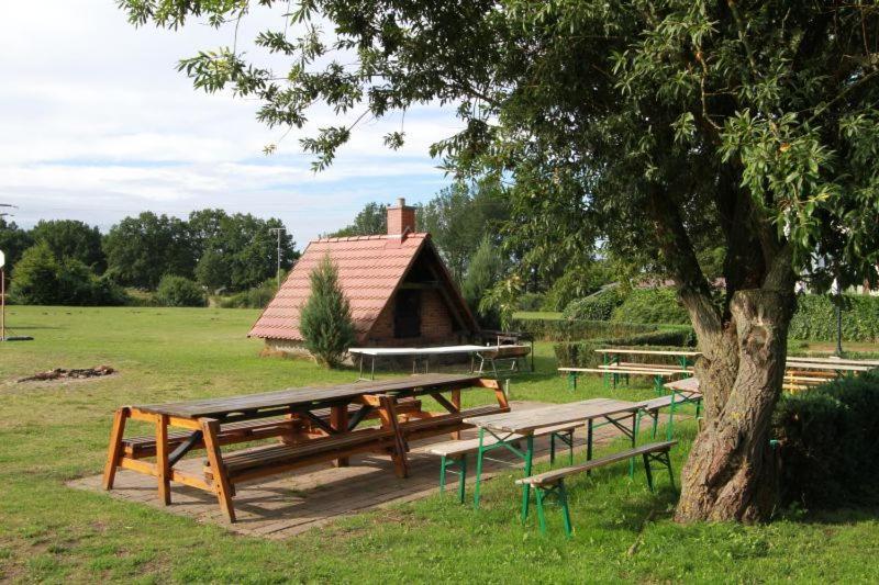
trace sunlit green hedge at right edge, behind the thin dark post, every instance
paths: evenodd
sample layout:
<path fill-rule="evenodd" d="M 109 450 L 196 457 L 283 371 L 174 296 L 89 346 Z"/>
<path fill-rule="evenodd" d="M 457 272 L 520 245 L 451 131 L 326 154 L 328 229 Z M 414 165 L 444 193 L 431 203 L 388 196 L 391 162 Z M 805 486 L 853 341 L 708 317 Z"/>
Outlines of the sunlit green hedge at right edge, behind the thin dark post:
<path fill-rule="evenodd" d="M 825 294 L 798 297 L 790 322 L 792 339 L 836 339 L 836 310 Z M 879 341 L 879 296 L 843 295 L 843 340 Z"/>

